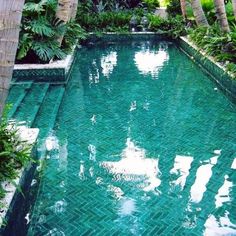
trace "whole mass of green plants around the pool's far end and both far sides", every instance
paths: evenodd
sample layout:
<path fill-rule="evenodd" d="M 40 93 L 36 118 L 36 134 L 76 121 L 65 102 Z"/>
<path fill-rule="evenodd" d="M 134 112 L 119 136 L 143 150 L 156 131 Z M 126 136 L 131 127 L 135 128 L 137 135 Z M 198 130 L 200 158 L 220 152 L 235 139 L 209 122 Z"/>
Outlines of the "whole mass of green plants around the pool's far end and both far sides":
<path fill-rule="evenodd" d="M 149 22 L 149 31 L 166 32 L 173 38 L 189 35 L 199 48 L 235 74 L 236 28 L 232 3 L 228 1 L 225 5 L 230 32 L 223 32 L 219 27 L 213 1 L 202 0 L 201 3 L 210 26 L 197 25 L 192 7 L 187 3 L 183 17 L 178 0 L 80 0 L 76 17 L 66 23 L 56 19 L 56 0 L 26 0 L 17 63 L 48 63 L 63 59 L 72 51 L 76 42 L 86 38 L 86 32 L 130 32 L 133 16 L 137 21 L 137 30 L 141 30 L 141 19 L 145 16 Z M 167 6 L 167 19 L 154 14 L 160 4 Z M 64 37 L 58 43 L 60 35 Z"/>

